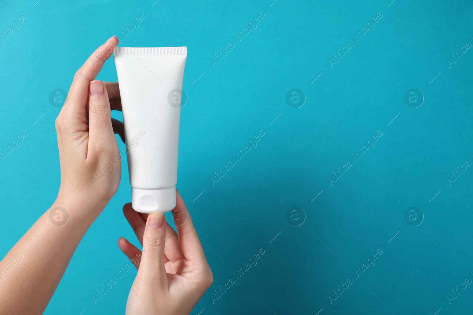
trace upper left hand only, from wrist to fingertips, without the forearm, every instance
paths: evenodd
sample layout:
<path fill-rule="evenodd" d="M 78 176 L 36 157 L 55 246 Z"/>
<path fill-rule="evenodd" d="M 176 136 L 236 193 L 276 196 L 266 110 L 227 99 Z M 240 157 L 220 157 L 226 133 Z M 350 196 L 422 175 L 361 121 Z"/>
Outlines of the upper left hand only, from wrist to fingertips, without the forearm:
<path fill-rule="evenodd" d="M 121 102 L 118 83 L 94 79 L 117 44 L 113 36 L 76 72 L 56 119 L 61 161 L 59 203 L 79 201 L 82 208 L 98 213 L 120 183 L 121 157 L 110 115 L 111 110 L 121 110 Z M 114 125 L 123 129 L 116 121 Z"/>

